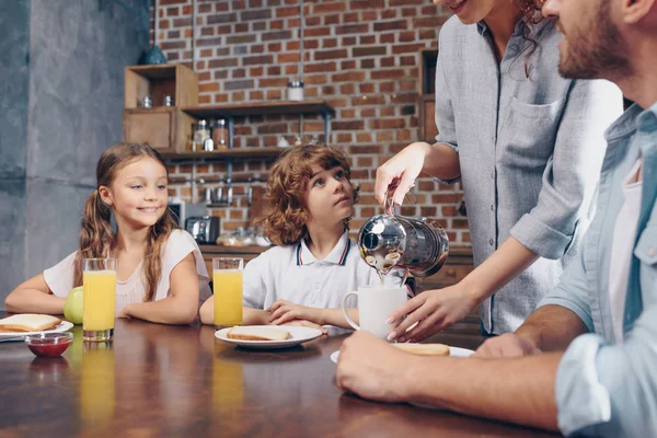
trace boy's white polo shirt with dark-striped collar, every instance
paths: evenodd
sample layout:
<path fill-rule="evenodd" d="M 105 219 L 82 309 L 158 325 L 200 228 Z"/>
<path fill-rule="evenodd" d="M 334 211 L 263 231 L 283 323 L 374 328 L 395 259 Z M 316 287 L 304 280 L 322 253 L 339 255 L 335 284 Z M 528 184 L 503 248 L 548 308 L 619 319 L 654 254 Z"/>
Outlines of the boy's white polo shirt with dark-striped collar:
<path fill-rule="evenodd" d="M 389 275 L 388 286 L 401 285 L 399 274 Z M 368 266 L 358 246 L 345 232 L 324 260 L 316 260 L 306 242 L 275 246 L 249 262 L 244 268 L 244 306 L 267 309 L 277 300 L 313 308 L 341 308 L 343 297 L 359 286 L 381 280 Z M 349 307 L 356 298 L 349 297 Z"/>

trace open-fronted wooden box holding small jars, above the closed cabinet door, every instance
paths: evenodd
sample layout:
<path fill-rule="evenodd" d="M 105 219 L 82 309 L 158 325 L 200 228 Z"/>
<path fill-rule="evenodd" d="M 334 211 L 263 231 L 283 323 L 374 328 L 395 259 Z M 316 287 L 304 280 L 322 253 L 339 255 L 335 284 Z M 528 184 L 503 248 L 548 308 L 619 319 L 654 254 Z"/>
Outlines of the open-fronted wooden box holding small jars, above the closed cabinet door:
<path fill-rule="evenodd" d="M 198 76 L 182 64 L 126 67 L 126 108 L 140 107 L 146 96 L 151 97 L 153 107 L 164 106 L 168 95 L 174 106 L 197 105 Z"/>

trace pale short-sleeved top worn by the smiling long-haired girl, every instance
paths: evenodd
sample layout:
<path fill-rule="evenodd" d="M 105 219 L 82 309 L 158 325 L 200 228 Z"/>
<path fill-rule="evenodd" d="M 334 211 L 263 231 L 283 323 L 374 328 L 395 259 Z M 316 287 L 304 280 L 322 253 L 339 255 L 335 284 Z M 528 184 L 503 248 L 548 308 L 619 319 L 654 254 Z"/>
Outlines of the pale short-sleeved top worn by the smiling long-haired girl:
<path fill-rule="evenodd" d="M 203 255 L 198 249 L 198 244 L 187 231 L 174 230 L 169 240 L 162 247 L 162 275 L 158 283 L 154 301 L 162 300 L 171 296 L 169 277 L 173 268 L 182 262 L 187 254 L 193 253 L 196 262 L 196 273 L 199 279 L 199 302 L 200 306 L 207 300 L 210 295 L 209 277 L 206 265 L 203 261 Z M 59 262 L 57 265 L 44 270 L 46 284 L 57 297 L 67 297 L 73 288 L 73 263 L 76 254 L 70 254 L 68 257 Z M 123 308 L 134 302 L 143 302 L 146 297 L 146 286 L 142 279 L 143 262 L 137 266 L 132 275 L 126 280 L 116 280 L 116 314 Z"/>

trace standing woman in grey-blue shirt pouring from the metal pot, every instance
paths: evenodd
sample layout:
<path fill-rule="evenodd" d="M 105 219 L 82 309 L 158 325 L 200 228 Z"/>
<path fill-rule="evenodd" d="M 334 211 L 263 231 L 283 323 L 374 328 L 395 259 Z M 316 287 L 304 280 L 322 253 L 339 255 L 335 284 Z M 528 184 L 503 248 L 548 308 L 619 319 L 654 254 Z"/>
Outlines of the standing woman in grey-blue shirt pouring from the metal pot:
<path fill-rule="evenodd" d="M 595 204 L 600 143 L 622 96 L 610 82 L 558 74 L 566 43 L 541 16 L 543 1 L 434 0 L 456 15 L 438 44 L 438 136 L 379 168 L 374 196 L 383 203 L 399 181 L 393 203 L 401 205 L 420 174 L 462 181 L 475 269 L 400 308 L 391 339 L 423 339 L 477 307 L 484 335 L 512 332 L 577 251 Z"/>

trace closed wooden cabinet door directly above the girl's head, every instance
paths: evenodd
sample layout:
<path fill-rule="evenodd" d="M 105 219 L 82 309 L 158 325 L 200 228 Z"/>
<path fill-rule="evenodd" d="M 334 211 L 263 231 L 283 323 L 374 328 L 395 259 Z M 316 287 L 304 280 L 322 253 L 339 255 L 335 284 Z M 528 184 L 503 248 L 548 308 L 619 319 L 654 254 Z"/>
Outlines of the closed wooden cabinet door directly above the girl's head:
<path fill-rule="evenodd" d="M 160 152 L 173 152 L 175 150 L 173 111 L 169 108 L 126 110 L 124 140 L 145 142 Z"/>

